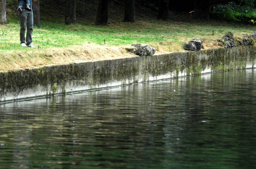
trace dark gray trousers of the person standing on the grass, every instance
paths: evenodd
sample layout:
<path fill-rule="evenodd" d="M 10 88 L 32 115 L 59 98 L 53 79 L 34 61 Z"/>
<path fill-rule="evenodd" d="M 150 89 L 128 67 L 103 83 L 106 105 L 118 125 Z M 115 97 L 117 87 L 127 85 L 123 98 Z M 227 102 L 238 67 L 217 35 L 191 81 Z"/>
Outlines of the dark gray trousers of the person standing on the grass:
<path fill-rule="evenodd" d="M 30 45 L 32 42 L 32 33 L 33 33 L 33 11 L 28 9 L 22 9 L 22 11 L 18 10 L 18 16 L 20 21 L 20 44 L 27 42 L 26 45 Z M 25 39 L 25 31 L 27 27 L 27 34 Z"/>

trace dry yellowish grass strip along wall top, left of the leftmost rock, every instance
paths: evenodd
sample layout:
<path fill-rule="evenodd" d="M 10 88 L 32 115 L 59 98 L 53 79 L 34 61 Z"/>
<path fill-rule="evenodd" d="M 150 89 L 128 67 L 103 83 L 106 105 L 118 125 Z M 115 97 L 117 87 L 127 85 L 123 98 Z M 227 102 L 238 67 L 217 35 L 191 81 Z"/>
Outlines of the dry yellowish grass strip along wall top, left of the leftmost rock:
<path fill-rule="evenodd" d="M 25 53 L 5 52 L 0 55 L 0 71 L 33 68 L 47 65 L 92 62 L 108 59 L 133 57 L 123 47 L 108 47 L 96 44 L 74 45 L 66 48 L 33 49 Z"/>

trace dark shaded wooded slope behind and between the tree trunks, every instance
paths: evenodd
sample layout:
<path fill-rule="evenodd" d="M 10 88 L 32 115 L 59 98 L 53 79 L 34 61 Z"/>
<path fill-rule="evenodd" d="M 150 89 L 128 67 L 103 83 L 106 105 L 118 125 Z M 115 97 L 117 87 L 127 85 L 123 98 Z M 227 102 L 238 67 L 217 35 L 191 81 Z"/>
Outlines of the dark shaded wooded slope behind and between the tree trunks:
<path fill-rule="evenodd" d="M 54 19 L 65 20 L 67 2 L 70 0 L 38 0 L 40 2 L 40 20 L 51 21 Z M 106 0 L 105 0 L 106 1 Z M 207 0 L 195 0 L 206 2 Z M 183 15 L 193 16 L 195 1 L 180 0 L 168 1 L 169 18 L 173 16 Z M 72 2 L 72 1 L 70 1 Z M 104 2 L 104 0 L 103 0 Z M 161 0 L 135 0 L 135 17 L 136 19 L 156 19 L 159 12 L 159 2 Z M 210 2 L 208 0 L 207 2 Z M 16 13 L 17 0 L 7 1 L 8 13 Z M 99 0 L 76 0 L 76 20 L 82 22 L 95 22 L 97 17 Z M 208 19 L 218 19 L 226 21 L 246 22 L 255 24 L 256 18 L 256 0 L 236 0 L 225 4 L 211 6 L 209 8 Z M 160 9 L 161 10 L 161 9 Z M 208 10 L 208 9 L 207 9 Z M 108 4 L 108 20 L 124 20 L 125 1 L 124 0 L 109 0 Z M 191 13 L 189 13 L 191 12 Z M 204 16 L 203 16 L 204 17 Z M 188 18 L 189 19 L 189 18 Z M 199 18 L 201 19 L 201 18 Z M 207 19 L 207 18 L 206 18 Z"/>

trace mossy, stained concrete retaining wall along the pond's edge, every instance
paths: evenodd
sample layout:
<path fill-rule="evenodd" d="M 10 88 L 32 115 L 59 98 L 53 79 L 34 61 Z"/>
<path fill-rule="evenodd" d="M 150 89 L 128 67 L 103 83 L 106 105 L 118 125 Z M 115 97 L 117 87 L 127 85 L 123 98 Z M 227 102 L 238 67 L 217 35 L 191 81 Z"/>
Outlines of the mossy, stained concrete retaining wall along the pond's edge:
<path fill-rule="evenodd" d="M 256 48 L 195 52 L 45 66 L 0 72 L 0 103 L 130 83 L 254 67 Z"/>

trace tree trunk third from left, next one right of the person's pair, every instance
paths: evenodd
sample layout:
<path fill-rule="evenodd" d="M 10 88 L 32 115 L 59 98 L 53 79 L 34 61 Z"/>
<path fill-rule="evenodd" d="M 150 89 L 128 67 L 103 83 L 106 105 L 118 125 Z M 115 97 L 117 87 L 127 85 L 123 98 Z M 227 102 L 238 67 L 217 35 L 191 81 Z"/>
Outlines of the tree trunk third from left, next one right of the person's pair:
<path fill-rule="evenodd" d="M 66 16 L 65 23 L 67 25 L 76 23 L 76 0 L 66 0 Z"/>

